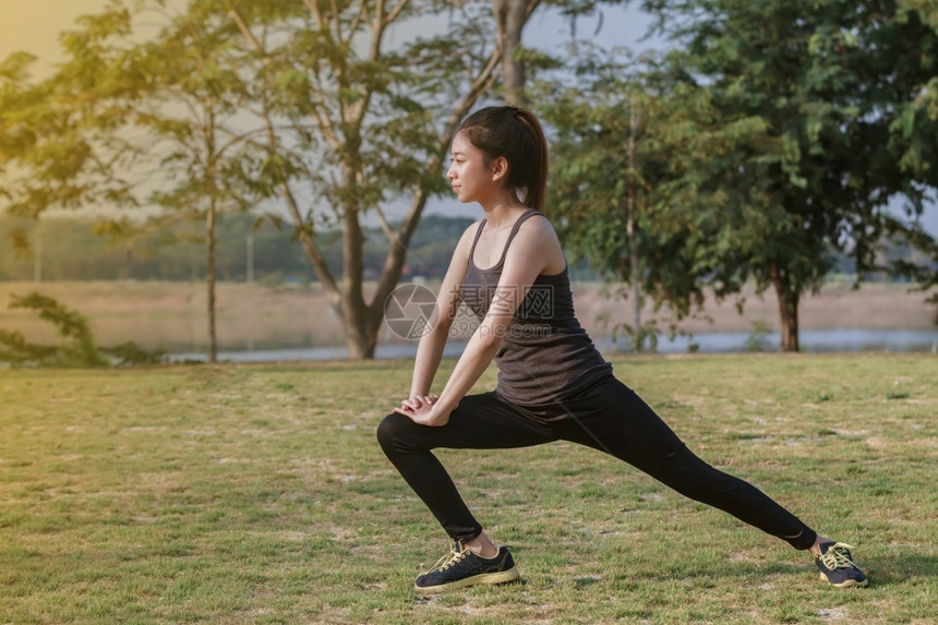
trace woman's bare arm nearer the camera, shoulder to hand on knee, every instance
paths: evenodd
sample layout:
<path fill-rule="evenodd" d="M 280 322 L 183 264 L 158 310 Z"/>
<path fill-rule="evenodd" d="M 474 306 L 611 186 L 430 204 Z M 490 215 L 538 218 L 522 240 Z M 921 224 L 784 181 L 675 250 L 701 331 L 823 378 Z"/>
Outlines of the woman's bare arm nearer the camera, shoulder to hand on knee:
<path fill-rule="evenodd" d="M 489 312 L 472 334 L 440 398 L 432 405 L 405 412 L 414 422 L 445 425 L 449 413 L 488 369 L 515 311 L 545 267 L 563 260 L 560 242 L 546 219 L 530 219 L 518 230 L 502 269 Z M 429 388 L 429 386 L 428 386 Z"/>

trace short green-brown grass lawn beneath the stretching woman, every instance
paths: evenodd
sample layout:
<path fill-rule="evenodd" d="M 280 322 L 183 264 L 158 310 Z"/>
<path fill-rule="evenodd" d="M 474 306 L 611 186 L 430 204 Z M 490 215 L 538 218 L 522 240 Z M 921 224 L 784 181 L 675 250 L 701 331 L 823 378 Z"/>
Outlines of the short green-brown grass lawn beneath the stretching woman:
<path fill-rule="evenodd" d="M 426 599 L 445 536 L 374 438 L 409 363 L 0 371 L 0 623 L 934 622 L 938 358 L 615 364 L 871 587 L 557 443 L 440 453 L 524 582 Z"/>

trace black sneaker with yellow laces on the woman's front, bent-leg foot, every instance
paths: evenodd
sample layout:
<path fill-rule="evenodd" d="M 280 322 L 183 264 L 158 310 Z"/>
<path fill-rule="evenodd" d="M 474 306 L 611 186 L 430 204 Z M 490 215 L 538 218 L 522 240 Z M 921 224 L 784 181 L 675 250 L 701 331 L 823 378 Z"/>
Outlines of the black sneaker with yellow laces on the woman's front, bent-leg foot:
<path fill-rule="evenodd" d="M 413 587 L 422 592 L 438 592 L 476 584 L 505 584 L 518 577 L 520 573 L 508 548 L 500 546 L 494 557 L 482 557 L 454 541 L 449 553 L 418 576 Z"/>

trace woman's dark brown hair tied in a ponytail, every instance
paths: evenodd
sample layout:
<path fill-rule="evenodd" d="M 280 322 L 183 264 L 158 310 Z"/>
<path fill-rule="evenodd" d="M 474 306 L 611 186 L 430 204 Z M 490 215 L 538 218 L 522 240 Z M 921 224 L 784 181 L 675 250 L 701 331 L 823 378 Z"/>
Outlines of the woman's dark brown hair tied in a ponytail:
<path fill-rule="evenodd" d="M 456 132 L 490 161 L 504 156 L 508 161 L 505 183 L 515 189 L 519 202 L 544 212 L 548 140 L 533 113 L 515 106 L 486 107 L 467 117 Z"/>

